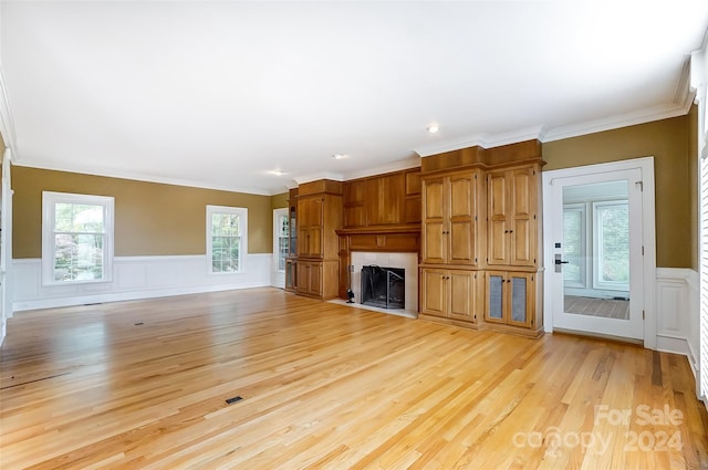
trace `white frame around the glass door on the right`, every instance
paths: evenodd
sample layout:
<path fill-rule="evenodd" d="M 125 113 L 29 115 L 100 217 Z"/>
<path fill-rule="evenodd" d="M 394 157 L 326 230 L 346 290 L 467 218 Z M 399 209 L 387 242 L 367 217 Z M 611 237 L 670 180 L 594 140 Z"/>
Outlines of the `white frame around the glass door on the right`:
<path fill-rule="evenodd" d="M 556 178 L 582 177 L 598 173 L 624 171 L 641 169 L 643 181 L 642 195 L 642 233 L 644 238 L 644 265 L 642 269 L 643 304 L 644 304 L 644 347 L 656 348 L 656 220 L 655 220 L 655 192 L 654 192 L 654 157 L 633 158 L 628 160 L 608 164 L 589 165 L 582 167 L 565 168 L 542 173 L 543 181 L 543 260 L 544 267 L 550 272 L 554 265 L 554 248 L 552 233 L 554 223 L 552 213 L 552 191 L 550 187 Z M 562 222 L 562 221 L 561 221 Z M 548 278 L 548 273 L 546 273 Z M 550 281 L 550 280 L 549 280 Z M 558 286 L 552 282 L 543 285 L 543 324 L 544 331 L 553 332 L 553 295 Z"/>

